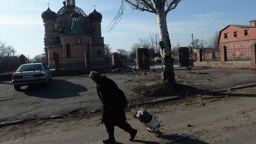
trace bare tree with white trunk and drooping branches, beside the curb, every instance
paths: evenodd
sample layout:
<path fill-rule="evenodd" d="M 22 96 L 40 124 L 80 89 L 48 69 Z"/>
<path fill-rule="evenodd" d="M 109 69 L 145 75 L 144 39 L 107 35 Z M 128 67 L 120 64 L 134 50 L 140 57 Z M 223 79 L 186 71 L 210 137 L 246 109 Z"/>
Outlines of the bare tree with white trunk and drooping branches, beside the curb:
<path fill-rule="evenodd" d="M 154 13 L 158 22 L 159 47 L 162 61 L 163 81 L 176 84 L 174 77 L 173 61 L 171 58 L 171 42 L 167 29 L 167 13 L 177 7 L 181 0 L 121 0 L 121 6 L 115 18 L 109 24 L 109 31 L 122 19 L 125 4 L 138 11 Z"/>

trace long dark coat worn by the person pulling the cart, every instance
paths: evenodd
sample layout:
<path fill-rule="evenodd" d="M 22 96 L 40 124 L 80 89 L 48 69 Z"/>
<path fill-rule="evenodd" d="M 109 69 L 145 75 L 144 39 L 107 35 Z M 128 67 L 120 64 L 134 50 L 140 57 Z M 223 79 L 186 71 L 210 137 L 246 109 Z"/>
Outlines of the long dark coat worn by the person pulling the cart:
<path fill-rule="evenodd" d="M 97 83 L 97 93 L 102 102 L 102 121 L 121 122 L 126 121 L 124 113 L 124 105 L 120 102 L 120 97 L 124 97 L 124 93 L 120 90 L 116 83 L 106 76 L 102 76 Z M 127 100 L 125 98 L 126 104 Z"/>

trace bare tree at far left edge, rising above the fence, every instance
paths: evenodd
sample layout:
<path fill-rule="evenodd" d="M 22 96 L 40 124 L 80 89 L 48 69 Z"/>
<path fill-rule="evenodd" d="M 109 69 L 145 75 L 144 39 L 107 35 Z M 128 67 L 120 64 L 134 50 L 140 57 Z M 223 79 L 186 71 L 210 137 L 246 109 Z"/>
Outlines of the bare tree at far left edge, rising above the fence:
<path fill-rule="evenodd" d="M 6 42 L 0 41 L 0 59 L 13 56 L 16 53 L 12 45 L 7 45 Z"/>

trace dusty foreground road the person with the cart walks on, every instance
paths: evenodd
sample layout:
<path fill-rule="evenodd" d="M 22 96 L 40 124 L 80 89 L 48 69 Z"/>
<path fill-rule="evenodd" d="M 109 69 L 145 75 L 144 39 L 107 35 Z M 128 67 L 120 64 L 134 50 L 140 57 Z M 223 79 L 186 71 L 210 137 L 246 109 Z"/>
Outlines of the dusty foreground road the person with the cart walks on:
<path fill-rule="evenodd" d="M 178 138 L 184 139 L 173 144 L 256 144 L 256 87 L 220 95 L 228 97 L 196 96 L 146 107 L 165 123 L 160 128 L 164 133 L 161 138 L 126 113 L 128 122 L 138 130 L 137 137 L 130 142 L 128 133 L 115 128 L 116 144 L 165 144 Z M 0 135 L 1 144 L 101 144 L 107 137 L 100 115 L 71 121 L 33 121 L 0 128 Z"/>

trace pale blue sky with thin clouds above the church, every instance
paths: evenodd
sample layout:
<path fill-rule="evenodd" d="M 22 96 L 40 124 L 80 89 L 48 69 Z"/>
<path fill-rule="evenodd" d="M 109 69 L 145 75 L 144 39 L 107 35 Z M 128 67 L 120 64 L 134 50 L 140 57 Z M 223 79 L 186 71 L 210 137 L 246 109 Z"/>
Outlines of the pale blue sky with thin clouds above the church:
<path fill-rule="evenodd" d="M 33 58 L 42 54 L 44 26 L 41 14 L 48 2 L 54 12 L 63 7 L 64 0 L 0 0 L 0 41 L 12 45 L 17 55 Z M 132 10 L 128 5 L 121 22 L 108 33 L 108 25 L 119 9 L 120 0 L 76 0 L 76 6 L 85 14 L 96 11 L 102 14 L 102 37 L 112 52 L 129 51 L 138 38 L 158 34 L 153 13 Z M 216 31 L 227 25 L 249 25 L 256 19 L 256 0 L 182 0 L 176 9 L 167 14 L 167 25 L 172 46 L 188 46 L 191 34 L 194 39 L 209 41 Z"/>

